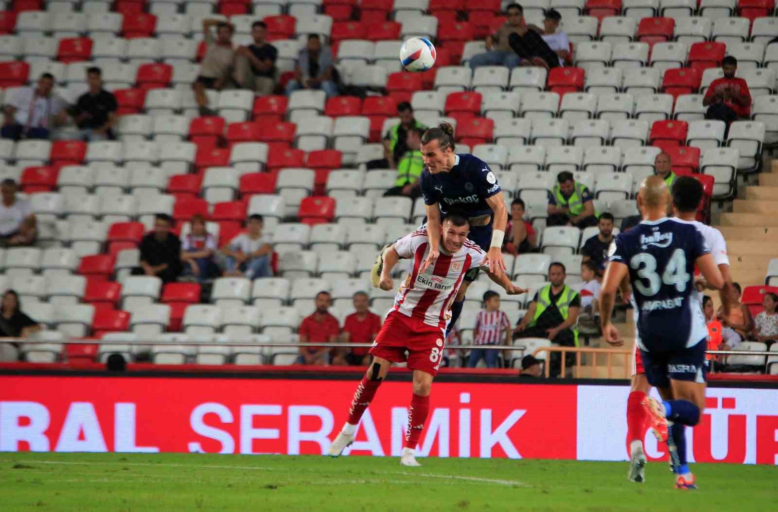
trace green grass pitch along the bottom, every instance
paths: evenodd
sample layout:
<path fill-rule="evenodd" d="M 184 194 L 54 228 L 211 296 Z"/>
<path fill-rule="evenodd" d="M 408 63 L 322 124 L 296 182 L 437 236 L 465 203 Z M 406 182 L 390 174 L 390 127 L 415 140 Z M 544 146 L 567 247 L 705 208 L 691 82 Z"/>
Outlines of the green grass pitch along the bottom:
<path fill-rule="evenodd" d="M 778 469 L 694 465 L 700 490 L 626 462 L 0 453 L 0 510 L 775 510 Z M 672 506 L 675 506 L 673 509 Z"/>

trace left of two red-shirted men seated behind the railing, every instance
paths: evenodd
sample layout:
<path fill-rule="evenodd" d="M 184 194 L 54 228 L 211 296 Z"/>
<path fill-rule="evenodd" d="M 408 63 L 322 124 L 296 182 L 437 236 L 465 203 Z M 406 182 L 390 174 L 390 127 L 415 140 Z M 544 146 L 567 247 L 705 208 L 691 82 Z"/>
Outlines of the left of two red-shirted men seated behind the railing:
<path fill-rule="evenodd" d="M 335 343 L 338 341 L 340 325 L 338 319 L 332 316 L 328 309 L 332 305 L 332 297 L 327 291 L 316 294 L 316 311 L 308 315 L 300 323 L 300 343 Z M 345 364 L 343 350 L 337 347 L 300 347 L 298 364 L 329 366 L 330 364 Z"/>

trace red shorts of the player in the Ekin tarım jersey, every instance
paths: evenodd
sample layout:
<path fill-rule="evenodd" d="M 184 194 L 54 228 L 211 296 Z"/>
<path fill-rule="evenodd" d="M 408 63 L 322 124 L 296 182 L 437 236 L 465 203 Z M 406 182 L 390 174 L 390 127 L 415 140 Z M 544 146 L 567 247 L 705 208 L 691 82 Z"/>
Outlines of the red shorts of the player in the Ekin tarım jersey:
<path fill-rule="evenodd" d="M 443 359 L 445 339 L 443 329 L 393 311 L 381 326 L 370 354 L 392 363 L 408 361 L 411 370 L 423 371 L 434 377 Z M 407 356 L 405 350 L 408 350 Z"/>

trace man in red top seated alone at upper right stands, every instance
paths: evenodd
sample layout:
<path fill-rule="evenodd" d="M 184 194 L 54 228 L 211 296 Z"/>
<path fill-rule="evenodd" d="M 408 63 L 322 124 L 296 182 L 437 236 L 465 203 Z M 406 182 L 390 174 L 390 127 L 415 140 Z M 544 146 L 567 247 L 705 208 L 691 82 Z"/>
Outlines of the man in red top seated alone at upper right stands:
<path fill-rule="evenodd" d="M 717 78 L 710 82 L 705 92 L 703 106 L 707 106 L 706 119 L 724 121 L 729 125 L 739 119 L 748 119 L 751 113 L 751 92 L 748 91 L 748 83 L 743 78 L 735 78 L 738 71 L 738 59 L 727 55 L 721 61 L 721 71 L 724 78 Z"/>

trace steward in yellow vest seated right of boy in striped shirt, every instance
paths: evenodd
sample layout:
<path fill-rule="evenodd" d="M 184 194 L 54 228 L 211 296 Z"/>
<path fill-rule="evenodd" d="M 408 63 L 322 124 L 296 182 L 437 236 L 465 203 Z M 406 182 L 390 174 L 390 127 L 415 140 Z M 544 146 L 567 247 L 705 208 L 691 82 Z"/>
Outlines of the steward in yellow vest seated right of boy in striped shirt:
<path fill-rule="evenodd" d="M 559 346 L 578 347 L 577 325 L 581 298 L 577 291 L 565 284 L 565 277 L 566 269 L 562 263 L 552 263 L 548 267 L 550 283 L 535 293 L 527 314 L 513 329 L 513 340 L 547 338 Z M 561 361 L 559 353 L 551 355 L 552 377 L 559 374 Z M 575 361 L 575 354 L 567 354 L 567 367 L 572 367 Z"/>

